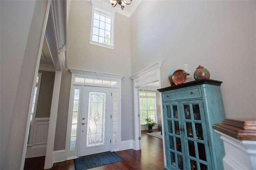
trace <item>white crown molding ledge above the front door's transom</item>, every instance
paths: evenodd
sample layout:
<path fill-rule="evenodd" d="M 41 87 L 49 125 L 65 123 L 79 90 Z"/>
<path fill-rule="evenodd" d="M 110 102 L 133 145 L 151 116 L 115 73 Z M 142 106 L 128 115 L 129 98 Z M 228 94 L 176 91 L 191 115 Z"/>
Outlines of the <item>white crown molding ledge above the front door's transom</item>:
<path fill-rule="evenodd" d="M 86 76 L 90 78 L 96 79 L 114 79 L 114 80 L 121 80 L 124 75 L 116 75 L 116 74 L 108 74 L 108 73 L 101 73 L 95 71 L 86 71 L 86 70 L 78 70 L 78 69 L 69 69 L 69 71 L 74 75 Z"/>

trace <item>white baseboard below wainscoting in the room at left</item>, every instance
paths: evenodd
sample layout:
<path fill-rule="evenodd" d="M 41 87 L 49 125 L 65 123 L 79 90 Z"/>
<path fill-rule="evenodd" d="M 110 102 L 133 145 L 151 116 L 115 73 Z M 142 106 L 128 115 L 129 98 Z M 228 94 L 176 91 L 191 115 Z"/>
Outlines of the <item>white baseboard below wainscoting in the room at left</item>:
<path fill-rule="evenodd" d="M 28 146 L 26 152 L 26 158 L 33 158 L 38 156 L 45 156 L 46 144 L 41 146 Z"/>

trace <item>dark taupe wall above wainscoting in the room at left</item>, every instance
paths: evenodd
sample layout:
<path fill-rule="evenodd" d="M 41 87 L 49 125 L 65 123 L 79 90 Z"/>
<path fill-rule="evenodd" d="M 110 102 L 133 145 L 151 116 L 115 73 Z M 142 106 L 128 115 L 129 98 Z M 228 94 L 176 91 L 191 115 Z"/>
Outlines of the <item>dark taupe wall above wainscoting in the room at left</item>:
<path fill-rule="evenodd" d="M 42 77 L 36 107 L 36 117 L 50 117 L 55 72 L 41 70 L 38 72 L 42 73 Z"/>

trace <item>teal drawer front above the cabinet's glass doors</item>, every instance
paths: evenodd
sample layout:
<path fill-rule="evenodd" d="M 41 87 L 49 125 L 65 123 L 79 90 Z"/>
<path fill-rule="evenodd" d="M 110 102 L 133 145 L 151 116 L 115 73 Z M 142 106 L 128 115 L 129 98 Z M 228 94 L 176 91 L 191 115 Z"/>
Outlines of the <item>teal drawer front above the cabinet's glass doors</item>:
<path fill-rule="evenodd" d="M 195 99 L 201 98 L 201 89 L 200 87 L 182 89 L 182 90 L 173 90 L 164 93 L 163 101 L 174 101 L 174 100 L 183 100 L 183 99 Z"/>

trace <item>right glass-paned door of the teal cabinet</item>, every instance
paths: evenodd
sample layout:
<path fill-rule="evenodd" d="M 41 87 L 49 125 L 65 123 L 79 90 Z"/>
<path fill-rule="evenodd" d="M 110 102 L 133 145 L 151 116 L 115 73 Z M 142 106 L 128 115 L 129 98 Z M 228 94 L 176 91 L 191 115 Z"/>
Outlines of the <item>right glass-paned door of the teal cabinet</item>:
<path fill-rule="evenodd" d="M 207 163 L 208 139 L 202 101 L 180 102 L 182 119 L 184 119 L 184 145 L 186 147 L 186 166 L 191 170 L 211 169 Z M 207 148 L 206 148 L 207 146 Z"/>

